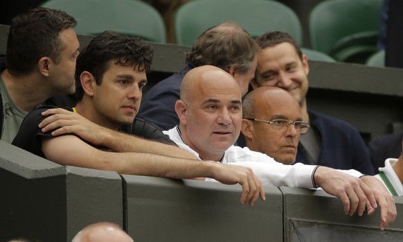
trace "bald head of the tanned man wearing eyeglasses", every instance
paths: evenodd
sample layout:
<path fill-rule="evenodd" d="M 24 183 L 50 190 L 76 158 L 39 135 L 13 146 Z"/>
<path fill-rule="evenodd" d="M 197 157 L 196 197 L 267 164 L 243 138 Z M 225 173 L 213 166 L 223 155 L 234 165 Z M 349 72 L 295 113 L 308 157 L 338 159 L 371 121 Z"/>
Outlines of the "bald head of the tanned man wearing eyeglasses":
<path fill-rule="evenodd" d="M 296 98 L 278 87 L 259 87 L 245 96 L 242 107 L 241 130 L 248 148 L 265 153 L 277 162 L 294 163 L 300 133 L 293 125 L 276 126 L 268 121 L 303 121 Z"/>

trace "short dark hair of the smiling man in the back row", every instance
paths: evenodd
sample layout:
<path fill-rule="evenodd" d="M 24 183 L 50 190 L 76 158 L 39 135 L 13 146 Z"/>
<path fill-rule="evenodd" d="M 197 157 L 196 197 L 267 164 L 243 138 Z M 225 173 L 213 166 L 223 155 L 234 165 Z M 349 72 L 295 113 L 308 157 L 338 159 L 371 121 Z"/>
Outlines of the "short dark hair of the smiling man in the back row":
<path fill-rule="evenodd" d="M 280 31 L 274 31 L 274 32 L 269 32 L 265 33 L 264 35 L 258 37 L 256 39 L 258 42 L 260 49 L 266 49 L 267 47 L 273 47 L 278 44 L 282 43 L 289 43 L 294 46 L 294 49 L 296 53 L 298 54 L 299 58 L 302 60 L 303 53 L 301 51 L 300 46 L 298 43 L 287 33 L 280 32 Z"/>

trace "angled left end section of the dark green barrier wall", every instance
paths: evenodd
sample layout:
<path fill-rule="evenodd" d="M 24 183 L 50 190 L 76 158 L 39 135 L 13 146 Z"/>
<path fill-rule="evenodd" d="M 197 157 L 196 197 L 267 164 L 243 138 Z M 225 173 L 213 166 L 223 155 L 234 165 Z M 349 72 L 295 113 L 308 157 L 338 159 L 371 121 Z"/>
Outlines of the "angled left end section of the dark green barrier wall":
<path fill-rule="evenodd" d="M 71 241 L 98 221 L 123 226 L 123 191 L 114 172 L 60 166 L 0 141 L 0 241 Z"/>

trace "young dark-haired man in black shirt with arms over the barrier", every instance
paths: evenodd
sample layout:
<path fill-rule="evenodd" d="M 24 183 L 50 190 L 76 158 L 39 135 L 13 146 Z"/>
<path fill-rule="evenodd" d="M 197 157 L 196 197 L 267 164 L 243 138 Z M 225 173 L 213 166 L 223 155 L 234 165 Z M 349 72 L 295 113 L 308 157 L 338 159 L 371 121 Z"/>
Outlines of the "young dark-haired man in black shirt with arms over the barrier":
<path fill-rule="evenodd" d="M 239 183 L 240 203 L 265 199 L 250 168 L 199 162 L 177 146 L 144 139 L 143 130 L 136 130 L 141 137 L 118 132 L 136 117 L 151 60 L 150 45 L 137 38 L 111 32 L 94 37 L 77 59 L 77 105 L 39 107 L 26 116 L 12 144 L 62 165 Z"/>

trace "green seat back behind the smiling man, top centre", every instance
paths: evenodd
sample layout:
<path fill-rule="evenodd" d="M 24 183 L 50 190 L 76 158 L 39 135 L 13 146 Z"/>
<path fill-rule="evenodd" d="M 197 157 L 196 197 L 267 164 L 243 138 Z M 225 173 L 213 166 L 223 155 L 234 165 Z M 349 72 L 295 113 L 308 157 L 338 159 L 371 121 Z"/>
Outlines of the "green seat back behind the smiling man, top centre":
<path fill-rule="evenodd" d="M 193 0 L 175 13 L 177 44 L 191 46 L 207 28 L 231 21 L 253 37 L 271 31 L 289 33 L 302 43 L 302 26 L 296 13 L 283 3 L 269 0 Z"/>

